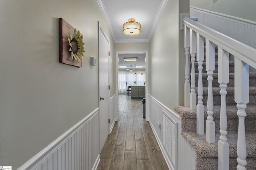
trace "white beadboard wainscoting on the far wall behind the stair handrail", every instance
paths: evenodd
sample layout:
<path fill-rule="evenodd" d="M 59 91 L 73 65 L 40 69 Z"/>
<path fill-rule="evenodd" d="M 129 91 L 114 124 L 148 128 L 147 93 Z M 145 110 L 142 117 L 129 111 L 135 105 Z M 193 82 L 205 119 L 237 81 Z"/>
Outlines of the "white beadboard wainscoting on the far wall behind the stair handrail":
<path fill-rule="evenodd" d="M 190 6 L 198 23 L 256 49 L 256 22 Z"/>

